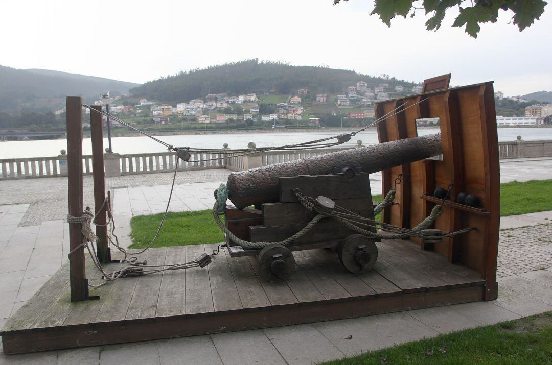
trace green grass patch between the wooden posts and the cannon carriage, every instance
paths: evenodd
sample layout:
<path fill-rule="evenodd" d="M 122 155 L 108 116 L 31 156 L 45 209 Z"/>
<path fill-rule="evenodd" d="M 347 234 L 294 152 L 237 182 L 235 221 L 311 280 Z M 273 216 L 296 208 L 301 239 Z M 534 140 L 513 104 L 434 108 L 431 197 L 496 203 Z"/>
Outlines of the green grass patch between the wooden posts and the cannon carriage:
<path fill-rule="evenodd" d="M 151 242 L 163 213 L 134 216 L 130 220 L 132 245 L 144 248 Z M 196 245 L 224 241 L 224 234 L 213 219 L 210 210 L 194 212 L 168 212 L 163 228 L 152 247 Z"/>

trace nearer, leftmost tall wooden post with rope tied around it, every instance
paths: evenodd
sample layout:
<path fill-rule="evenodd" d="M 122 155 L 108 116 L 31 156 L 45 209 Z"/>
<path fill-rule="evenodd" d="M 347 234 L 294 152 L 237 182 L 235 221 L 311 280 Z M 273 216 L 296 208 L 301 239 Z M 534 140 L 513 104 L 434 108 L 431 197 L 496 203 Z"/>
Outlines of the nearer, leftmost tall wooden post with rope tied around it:
<path fill-rule="evenodd" d="M 67 186 L 69 215 L 81 217 L 82 203 L 82 98 L 67 96 Z M 81 224 L 69 224 L 69 248 L 74 250 L 84 240 Z M 87 297 L 84 247 L 69 256 L 71 302 Z"/>

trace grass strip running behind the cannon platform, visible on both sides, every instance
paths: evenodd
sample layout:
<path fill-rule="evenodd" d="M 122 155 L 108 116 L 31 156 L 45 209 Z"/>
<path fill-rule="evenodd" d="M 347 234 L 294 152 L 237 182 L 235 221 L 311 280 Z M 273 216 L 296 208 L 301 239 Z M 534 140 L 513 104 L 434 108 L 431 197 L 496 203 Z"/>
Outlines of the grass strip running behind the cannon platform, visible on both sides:
<path fill-rule="evenodd" d="M 381 195 L 374 195 L 381 201 Z M 512 181 L 501 184 L 501 216 L 552 210 L 552 180 Z M 157 232 L 163 214 L 135 216 L 130 221 L 131 248 L 145 247 Z M 380 219 L 380 216 L 376 216 Z M 168 213 L 153 247 L 217 243 L 224 240 L 210 210 Z"/>

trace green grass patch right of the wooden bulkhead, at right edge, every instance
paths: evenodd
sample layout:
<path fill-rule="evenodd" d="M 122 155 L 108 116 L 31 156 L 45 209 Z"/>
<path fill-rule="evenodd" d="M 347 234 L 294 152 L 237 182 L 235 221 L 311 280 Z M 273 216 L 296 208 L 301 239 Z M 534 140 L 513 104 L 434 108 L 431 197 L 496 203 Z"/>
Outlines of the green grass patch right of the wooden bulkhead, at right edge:
<path fill-rule="evenodd" d="M 513 216 L 552 210 L 552 180 L 500 184 L 500 215 Z"/>

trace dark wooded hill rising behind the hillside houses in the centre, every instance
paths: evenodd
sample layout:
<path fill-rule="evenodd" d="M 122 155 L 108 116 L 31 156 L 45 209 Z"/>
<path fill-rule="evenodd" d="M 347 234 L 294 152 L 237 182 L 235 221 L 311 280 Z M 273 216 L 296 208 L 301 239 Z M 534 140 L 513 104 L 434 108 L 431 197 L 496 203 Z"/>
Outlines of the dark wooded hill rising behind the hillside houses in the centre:
<path fill-rule="evenodd" d="M 350 70 L 320 66 L 291 66 L 257 59 L 194 69 L 147 82 L 130 92 L 135 96 L 167 103 L 203 98 L 207 94 L 248 94 L 272 92 L 290 94 L 299 88 L 311 93 L 341 93 L 344 88 L 365 81 L 369 88 L 387 83 L 390 87 L 415 84 L 395 78 L 372 77 Z"/>

